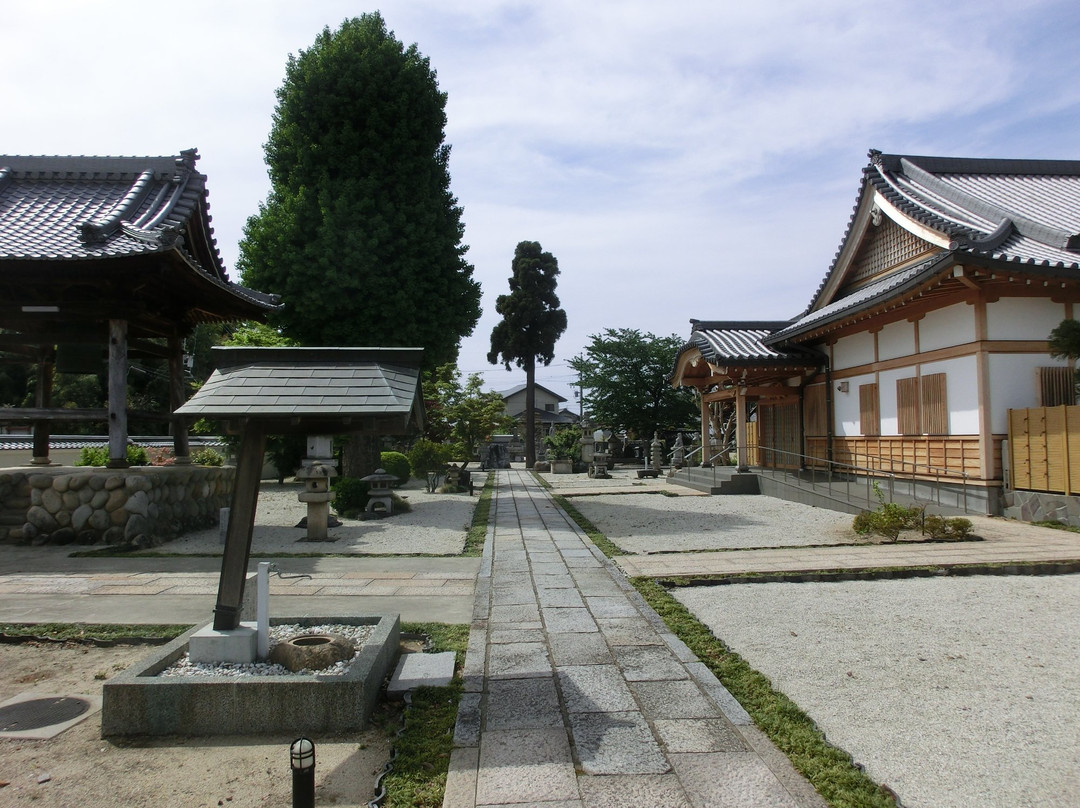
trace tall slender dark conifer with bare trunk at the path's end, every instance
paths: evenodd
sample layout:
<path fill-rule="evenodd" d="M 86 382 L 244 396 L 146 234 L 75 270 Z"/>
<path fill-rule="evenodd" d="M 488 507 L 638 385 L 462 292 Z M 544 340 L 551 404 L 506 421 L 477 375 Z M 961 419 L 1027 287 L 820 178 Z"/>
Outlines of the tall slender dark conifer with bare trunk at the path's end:
<path fill-rule="evenodd" d="M 566 331 L 566 312 L 558 308 L 555 286 L 558 261 L 535 241 L 523 241 L 514 250 L 510 294 L 499 295 L 495 310 L 502 320 L 491 331 L 492 365 L 502 359 L 525 371 L 525 466 L 536 462 L 536 366 L 550 365 L 555 342 Z"/>

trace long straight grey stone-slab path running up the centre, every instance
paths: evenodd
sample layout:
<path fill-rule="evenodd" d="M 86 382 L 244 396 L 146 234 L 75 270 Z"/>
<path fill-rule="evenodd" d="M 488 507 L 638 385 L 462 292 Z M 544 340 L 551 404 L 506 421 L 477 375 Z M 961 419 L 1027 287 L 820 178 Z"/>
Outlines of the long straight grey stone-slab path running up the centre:
<path fill-rule="evenodd" d="M 444 808 L 824 805 L 625 578 L 498 472 Z"/>

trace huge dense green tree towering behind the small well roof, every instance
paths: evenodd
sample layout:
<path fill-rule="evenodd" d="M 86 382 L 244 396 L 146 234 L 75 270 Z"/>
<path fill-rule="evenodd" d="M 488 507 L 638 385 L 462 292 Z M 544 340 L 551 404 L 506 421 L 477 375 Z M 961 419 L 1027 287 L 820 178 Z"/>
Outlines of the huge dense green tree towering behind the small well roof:
<path fill-rule="evenodd" d="M 271 319 L 307 346 L 419 346 L 457 358 L 480 319 L 450 193 L 446 94 L 380 14 L 289 56 L 266 145 L 271 191 L 244 229 L 245 284 L 282 297 Z"/>

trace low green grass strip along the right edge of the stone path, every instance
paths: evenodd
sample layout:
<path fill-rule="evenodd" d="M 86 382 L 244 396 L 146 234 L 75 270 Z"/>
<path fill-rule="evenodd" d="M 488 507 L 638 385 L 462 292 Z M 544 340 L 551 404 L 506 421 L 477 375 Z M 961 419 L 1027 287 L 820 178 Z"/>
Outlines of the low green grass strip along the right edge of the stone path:
<path fill-rule="evenodd" d="M 575 520 L 609 558 L 625 555 L 582 516 L 564 497 L 559 507 Z M 667 628 L 693 651 L 743 705 L 754 723 L 791 759 L 832 808 L 895 808 L 895 799 L 860 770 L 851 756 L 828 743 L 799 706 L 774 690 L 762 674 L 717 639 L 704 623 L 656 581 L 633 578 L 631 583 L 660 615 Z"/>

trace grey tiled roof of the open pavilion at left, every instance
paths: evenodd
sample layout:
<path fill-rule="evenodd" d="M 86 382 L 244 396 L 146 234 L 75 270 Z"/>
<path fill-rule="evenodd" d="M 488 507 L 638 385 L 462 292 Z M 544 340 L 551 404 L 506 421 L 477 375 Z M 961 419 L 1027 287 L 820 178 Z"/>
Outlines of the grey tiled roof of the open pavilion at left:
<path fill-rule="evenodd" d="M 0 261 L 178 251 L 217 285 L 269 307 L 271 296 L 228 281 L 198 159 L 194 149 L 175 157 L 0 156 Z"/>

